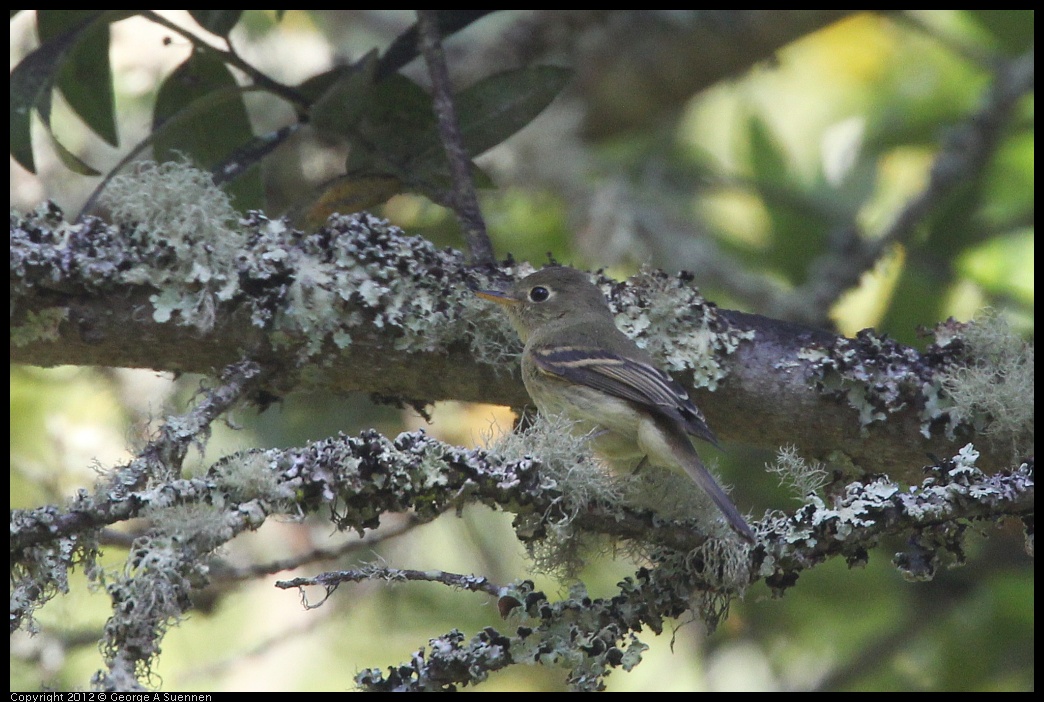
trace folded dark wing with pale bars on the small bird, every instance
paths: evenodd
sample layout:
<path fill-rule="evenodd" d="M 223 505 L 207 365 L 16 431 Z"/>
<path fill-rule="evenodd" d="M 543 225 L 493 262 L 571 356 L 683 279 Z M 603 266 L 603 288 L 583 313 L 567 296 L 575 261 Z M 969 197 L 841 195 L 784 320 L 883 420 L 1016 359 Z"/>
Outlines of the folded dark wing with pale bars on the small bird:
<path fill-rule="evenodd" d="M 717 446 L 717 438 L 685 388 L 659 368 L 593 346 L 547 346 L 531 351 L 542 373 L 637 402 Z"/>

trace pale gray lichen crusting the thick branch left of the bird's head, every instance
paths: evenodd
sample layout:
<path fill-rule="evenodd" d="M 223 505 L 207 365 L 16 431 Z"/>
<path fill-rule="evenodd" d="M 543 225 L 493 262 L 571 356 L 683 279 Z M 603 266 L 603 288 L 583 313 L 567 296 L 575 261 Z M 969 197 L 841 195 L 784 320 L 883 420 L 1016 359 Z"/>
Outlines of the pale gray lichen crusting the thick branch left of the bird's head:
<path fill-rule="evenodd" d="M 199 331 L 235 303 L 302 360 L 351 345 L 361 327 L 390 332 L 396 349 L 440 350 L 485 314 L 462 285 L 458 253 L 365 213 L 334 215 L 305 234 L 237 215 L 209 176 L 177 163 L 116 179 L 106 205 L 113 226 L 68 223 L 53 206 L 13 212 L 13 290 L 147 286 L 156 322 Z"/>

